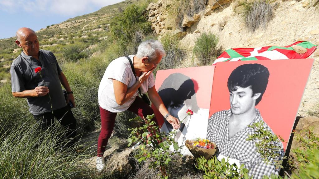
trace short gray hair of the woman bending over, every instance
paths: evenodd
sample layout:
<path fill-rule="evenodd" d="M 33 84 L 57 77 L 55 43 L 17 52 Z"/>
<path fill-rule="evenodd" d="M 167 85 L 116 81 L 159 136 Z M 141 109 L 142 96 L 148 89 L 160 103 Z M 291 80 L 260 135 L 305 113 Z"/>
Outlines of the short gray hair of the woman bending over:
<path fill-rule="evenodd" d="M 138 46 L 136 56 L 138 58 L 147 56 L 150 58 L 150 61 L 152 61 L 156 59 L 157 54 L 165 56 L 166 53 L 165 53 L 164 47 L 158 40 L 150 39 L 150 40 L 146 40 L 142 42 Z"/>

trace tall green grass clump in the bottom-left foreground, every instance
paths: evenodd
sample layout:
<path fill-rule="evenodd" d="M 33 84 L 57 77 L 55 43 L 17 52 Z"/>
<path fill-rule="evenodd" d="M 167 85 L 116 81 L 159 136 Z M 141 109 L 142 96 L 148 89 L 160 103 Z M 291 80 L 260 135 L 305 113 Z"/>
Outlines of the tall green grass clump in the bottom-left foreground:
<path fill-rule="evenodd" d="M 92 173 L 82 163 L 89 149 L 78 143 L 74 150 L 62 148 L 67 141 L 57 127 L 41 131 L 26 122 L 8 131 L 0 126 L 0 133 L 0 178 L 89 178 Z"/>

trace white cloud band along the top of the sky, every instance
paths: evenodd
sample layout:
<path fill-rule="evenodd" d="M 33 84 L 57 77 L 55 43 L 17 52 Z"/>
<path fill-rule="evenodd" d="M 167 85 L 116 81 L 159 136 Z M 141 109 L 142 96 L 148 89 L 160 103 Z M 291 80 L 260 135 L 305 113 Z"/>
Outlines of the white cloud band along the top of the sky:
<path fill-rule="evenodd" d="M 28 13 L 50 12 L 62 16 L 82 15 L 123 0 L 0 0 L 0 10 Z"/>

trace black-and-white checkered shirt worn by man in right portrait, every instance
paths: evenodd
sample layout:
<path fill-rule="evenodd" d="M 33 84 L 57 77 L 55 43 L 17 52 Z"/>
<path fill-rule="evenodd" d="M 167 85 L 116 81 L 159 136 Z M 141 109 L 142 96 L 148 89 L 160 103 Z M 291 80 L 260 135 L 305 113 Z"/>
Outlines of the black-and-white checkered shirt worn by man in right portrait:
<path fill-rule="evenodd" d="M 256 109 L 256 113 L 256 118 L 250 125 L 263 121 L 258 109 Z M 207 139 L 217 145 L 220 154 L 237 159 L 240 164 L 244 164 L 245 168 L 249 170 L 249 176 L 254 179 L 262 179 L 263 175 L 278 175 L 279 169 L 276 170 L 273 164 L 263 161 L 263 158 L 257 152 L 255 142 L 246 140 L 249 134 L 254 134 L 254 129 L 246 127 L 228 139 L 228 123 L 231 114 L 231 110 L 219 111 L 208 119 Z M 273 133 L 266 123 L 264 123 L 264 127 Z M 278 142 L 276 145 L 283 148 L 282 142 Z M 283 157 L 284 151 L 282 150 L 280 154 Z"/>

